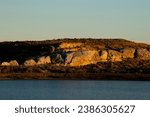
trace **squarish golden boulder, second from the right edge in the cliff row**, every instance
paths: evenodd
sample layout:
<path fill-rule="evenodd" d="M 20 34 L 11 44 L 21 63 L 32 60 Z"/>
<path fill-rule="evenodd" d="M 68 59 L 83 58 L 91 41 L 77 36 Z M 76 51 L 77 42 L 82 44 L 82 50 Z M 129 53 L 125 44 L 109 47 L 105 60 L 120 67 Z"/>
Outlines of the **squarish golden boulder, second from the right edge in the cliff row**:
<path fill-rule="evenodd" d="M 134 58 L 135 49 L 134 48 L 124 48 L 122 51 L 122 58 Z"/>

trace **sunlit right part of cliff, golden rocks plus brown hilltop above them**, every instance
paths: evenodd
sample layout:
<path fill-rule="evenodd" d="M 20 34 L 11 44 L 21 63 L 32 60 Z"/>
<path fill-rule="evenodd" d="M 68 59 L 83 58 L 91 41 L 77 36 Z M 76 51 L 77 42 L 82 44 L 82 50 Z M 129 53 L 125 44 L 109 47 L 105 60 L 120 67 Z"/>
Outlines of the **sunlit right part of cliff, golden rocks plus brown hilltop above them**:
<path fill-rule="evenodd" d="M 126 59 L 150 60 L 150 46 L 146 44 L 119 39 L 71 41 L 62 42 L 59 45 L 67 52 L 66 64 L 69 66 L 120 62 Z"/>

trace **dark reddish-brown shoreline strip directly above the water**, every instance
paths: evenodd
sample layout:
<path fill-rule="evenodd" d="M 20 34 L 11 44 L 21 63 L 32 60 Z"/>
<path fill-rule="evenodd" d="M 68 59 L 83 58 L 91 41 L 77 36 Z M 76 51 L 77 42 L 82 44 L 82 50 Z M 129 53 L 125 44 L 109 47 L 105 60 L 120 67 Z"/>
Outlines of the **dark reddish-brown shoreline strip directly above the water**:
<path fill-rule="evenodd" d="M 150 81 L 140 73 L 0 73 L 0 80 L 129 80 Z"/>

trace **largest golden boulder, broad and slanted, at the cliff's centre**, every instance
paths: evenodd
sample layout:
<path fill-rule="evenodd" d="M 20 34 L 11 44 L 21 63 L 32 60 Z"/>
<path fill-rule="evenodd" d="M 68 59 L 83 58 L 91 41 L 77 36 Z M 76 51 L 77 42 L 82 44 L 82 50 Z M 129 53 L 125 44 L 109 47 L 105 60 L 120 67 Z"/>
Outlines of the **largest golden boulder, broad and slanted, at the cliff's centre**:
<path fill-rule="evenodd" d="M 67 62 L 70 66 L 83 66 L 96 64 L 99 60 L 99 53 L 95 50 L 76 51 L 67 55 Z"/>

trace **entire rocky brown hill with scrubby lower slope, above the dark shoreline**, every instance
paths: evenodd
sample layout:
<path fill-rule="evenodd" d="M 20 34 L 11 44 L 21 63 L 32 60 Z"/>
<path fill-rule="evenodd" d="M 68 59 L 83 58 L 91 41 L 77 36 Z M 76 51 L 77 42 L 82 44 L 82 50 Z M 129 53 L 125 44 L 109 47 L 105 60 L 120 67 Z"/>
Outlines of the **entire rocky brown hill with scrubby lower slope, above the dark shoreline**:
<path fill-rule="evenodd" d="M 111 76 L 113 73 L 130 73 L 136 79 L 139 76 L 135 74 L 138 73 L 139 79 L 150 79 L 150 45 L 125 39 L 1 42 L 0 50 L 1 76 L 8 73 L 30 73 L 31 76 L 42 73 L 44 77 L 52 77 L 53 74 L 56 78 L 77 78 L 80 74 L 84 79 L 90 78 L 89 73 L 94 73 L 99 74 L 95 77 L 101 79 L 102 76 L 106 77 L 106 74 L 102 75 L 104 73 L 111 73 Z M 66 74 L 70 74 L 70 77 Z"/>

